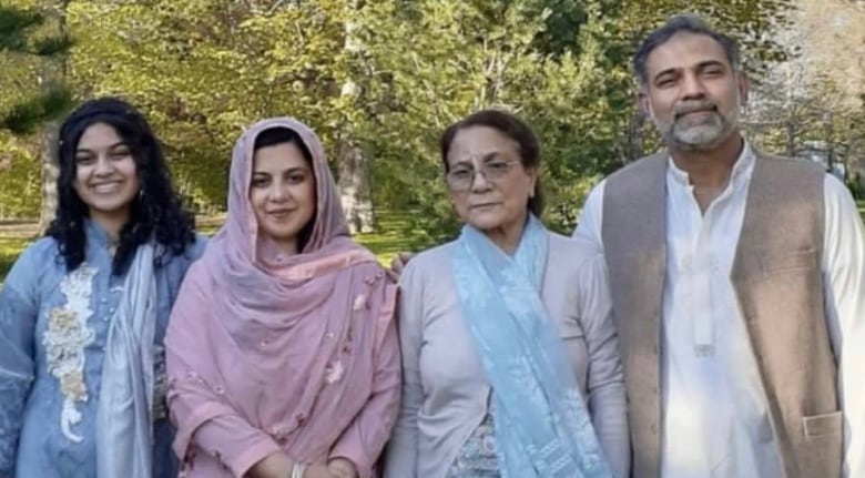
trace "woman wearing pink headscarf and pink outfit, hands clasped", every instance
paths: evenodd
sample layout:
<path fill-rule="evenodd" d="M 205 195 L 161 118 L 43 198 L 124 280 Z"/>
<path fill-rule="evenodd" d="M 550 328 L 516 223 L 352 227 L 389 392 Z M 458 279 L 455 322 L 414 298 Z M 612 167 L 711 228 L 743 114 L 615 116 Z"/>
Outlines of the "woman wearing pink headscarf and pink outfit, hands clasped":
<path fill-rule="evenodd" d="M 165 338 L 181 476 L 374 476 L 399 401 L 395 293 L 349 238 L 315 134 L 252 125 Z"/>

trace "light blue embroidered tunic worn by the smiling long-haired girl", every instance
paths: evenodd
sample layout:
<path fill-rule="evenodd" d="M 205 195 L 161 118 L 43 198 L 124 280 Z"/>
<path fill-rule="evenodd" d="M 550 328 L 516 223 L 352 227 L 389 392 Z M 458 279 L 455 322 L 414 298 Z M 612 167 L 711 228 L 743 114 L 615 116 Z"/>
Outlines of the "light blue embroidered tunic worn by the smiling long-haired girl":
<path fill-rule="evenodd" d="M 0 291 L 0 477 L 94 478 L 102 358 L 123 277 L 111 275 L 108 234 L 86 225 L 85 262 L 67 273 L 57 242 L 24 251 Z M 164 407 L 162 342 L 186 268 L 204 250 L 200 237 L 156 268 L 154 338 L 155 478 L 174 478 L 173 429 Z"/>

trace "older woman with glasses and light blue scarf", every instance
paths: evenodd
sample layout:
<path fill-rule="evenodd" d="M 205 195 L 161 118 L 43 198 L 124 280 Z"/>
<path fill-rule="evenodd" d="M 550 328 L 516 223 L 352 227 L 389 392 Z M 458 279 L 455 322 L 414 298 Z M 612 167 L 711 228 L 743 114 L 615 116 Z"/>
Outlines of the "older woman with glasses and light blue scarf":
<path fill-rule="evenodd" d="M 628 476 L 603 257 L 538 220 L 535 133 L 485 110 L 440 145 L 465 225 L 400 277 L 403 404 L 385 477 Z"/>

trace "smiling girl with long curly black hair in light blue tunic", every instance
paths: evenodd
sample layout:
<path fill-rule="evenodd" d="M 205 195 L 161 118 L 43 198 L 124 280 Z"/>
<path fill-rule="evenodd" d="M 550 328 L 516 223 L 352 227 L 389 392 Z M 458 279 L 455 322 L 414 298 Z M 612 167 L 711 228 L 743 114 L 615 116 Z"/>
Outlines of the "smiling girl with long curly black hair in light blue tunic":
<path fill-rule="evenodd" d="M 129 103 L 60 129 L 57 218 L 0 292 L 0 476 L 176 475 L 162 340 L 202 243 Z"/>

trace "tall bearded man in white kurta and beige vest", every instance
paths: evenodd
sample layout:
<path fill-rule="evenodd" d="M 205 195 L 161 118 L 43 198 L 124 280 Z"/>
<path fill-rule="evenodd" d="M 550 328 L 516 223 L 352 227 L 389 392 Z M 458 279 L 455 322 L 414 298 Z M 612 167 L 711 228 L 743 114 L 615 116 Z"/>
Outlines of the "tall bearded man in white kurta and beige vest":
<path fill-rule="evenodd" d="M 633 67 L 666 149 L 590 194 L 635 478 L 865 477 L 865 234 L 820 166 L 740 131 L 735 43 L 692 16 Z"/>

